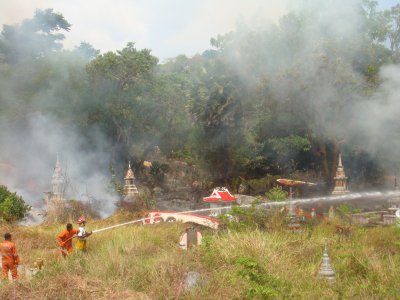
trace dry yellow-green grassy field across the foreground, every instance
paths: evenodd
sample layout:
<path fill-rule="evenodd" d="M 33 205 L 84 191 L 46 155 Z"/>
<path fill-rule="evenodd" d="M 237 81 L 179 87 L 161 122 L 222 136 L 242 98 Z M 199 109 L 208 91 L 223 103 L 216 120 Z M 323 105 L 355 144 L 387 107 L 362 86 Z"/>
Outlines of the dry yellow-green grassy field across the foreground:
<path fill-rule="evenodd" d="M 132 220 L 129 214 L 91 221 L 97 229 Z M 128 225 L 94 234 L 88 251 L 57 260 L 62 224 L 6 227 L 26 265 L 45 268 L 32 280 L 5 283 L 0 299 L 399 299 L 400 231 L 353 227 L 339 241 L 336 222 L 291 233 L 268 230 L 205 231 L 202 246 L 179 249 L 180 223 Z M 325 238 L 336 283 L 316 276 Z M 185 274 L 201 274 L 198 286 L 182 290 Z"/>

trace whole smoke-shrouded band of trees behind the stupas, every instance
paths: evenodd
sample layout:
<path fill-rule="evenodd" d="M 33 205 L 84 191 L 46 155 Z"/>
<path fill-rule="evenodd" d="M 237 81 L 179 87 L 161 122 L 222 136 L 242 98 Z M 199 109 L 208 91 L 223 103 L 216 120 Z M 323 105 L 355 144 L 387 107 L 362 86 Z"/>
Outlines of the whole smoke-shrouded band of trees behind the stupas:
<path fill-rule="evenodd" d="M 400 168 L 399 20 L 400 5 L 294 1 L 159 64 L 133 42 L 64 50 L 79 28 L 37 11 L 0 35 L 0 184 L 39 199 L 59 152 L 73 197 L 110 202 L 110 165 L 140 177 L 158 146 L 215 185 L 304 172 L 329 187 L 342 152 L 355 190 L 381 188 Z"/>

